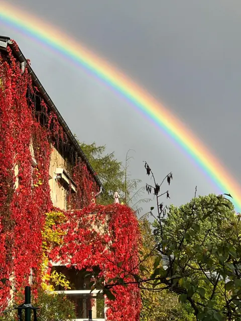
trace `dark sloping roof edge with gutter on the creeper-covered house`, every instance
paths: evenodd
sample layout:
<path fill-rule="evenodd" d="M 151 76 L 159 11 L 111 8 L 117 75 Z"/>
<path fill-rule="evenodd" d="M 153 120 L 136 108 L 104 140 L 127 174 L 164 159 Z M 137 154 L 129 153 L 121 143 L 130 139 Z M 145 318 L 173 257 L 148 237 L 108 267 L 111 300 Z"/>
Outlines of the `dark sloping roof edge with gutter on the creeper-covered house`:
<path fill-rule="evenodd" d="M 43 99 L 45 101 L 45 103 L 50 108 L 50 110 L 52 110 L 56 114 L 56 116 L 58 118 L 58 121 L 61 124 L 61 126 L 63 127 L 63 129 L 66 132 L 67 136 L 69 137 L 70 142 L 75 147 L 75 149 L 76 149 L 77 153 L 79 154 L 79 156 L 81 157 L 82 161 L 86 164 L 87 169 L 93 175 L 94 180 L 96 181 L 98 186 L 103 189 L 102 183 L 100 182 L 98 176 L 95 174 L 95 171 L 93 170 L 92 166 L 90 165 L 90 163 L 89 163 L 87 157 L 85 156 L 83 150 L 80 148 L 77 140 L 75 139 L 75 137 L 72 134 L 71 130 L 69 129 L 68 125 L 66 124 L 65 120 L 63 119 L 63 117 L 61 116 L 60 112 L 56 108 L 56 106 L 53 103 L 52 99 L 49 97 L 49 95 L 47 94 L 46 90 L 42 86 L 41 82 L 39 81 L 38 77 L 34 73 L 32 67 L 29 65 L 27 59 L 23 55 L 23 53 L 20 50 L 20 48 L 17 45 L 17 43 L 14 42 L 14 41 L 11 41 L 11 39 L 9 37 L 0 36 L 0 50 L 6 51 L 8 46 L 12 49 L 14 56 L 20 62 L 21 69 L 23 70 L 23 72 L 24 72 L 25 68 L 28 69 L 28 72 L 32 77 L 32 81 L 33 81 L 34 85 L 38 88 L 40 94 L 42 95 L 42 97 L 43 97 Z"/>

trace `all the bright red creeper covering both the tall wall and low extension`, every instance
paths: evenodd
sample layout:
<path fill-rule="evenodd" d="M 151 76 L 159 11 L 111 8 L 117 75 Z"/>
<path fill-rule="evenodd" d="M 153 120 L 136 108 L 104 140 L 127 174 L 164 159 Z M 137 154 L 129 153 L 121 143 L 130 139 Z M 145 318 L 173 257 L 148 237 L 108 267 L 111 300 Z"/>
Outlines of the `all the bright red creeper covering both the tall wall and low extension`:
<path fill-rule="evenodd" d="M 119 272 L 120 261 L 127 269 L 136 269 L 140 240 L 131 209 L 90 205 L 92 192 L 98 190 L 93 177 L 34 88 L 27 68 L 21 75 L 20 63 L 7 49 L 7 53 L 0 53 L 0 309 L 10 298 L 10 286 L 20 291 L 29 283 L 30 268 L 35 286 L 41 284 L 46 255 L 65 263 L 71 257 L 70 264 L 79 269 L 99 265 L 107 280 Z M 36 167 L 32 165 L 31 145 Z M 56 211 L 49 186 L 52 148 L 67 157 L 68 174 L 77 189 L 76 193 L 69 191 L 67 207 L 72 211 L 63 212 L 67 220 L 59 223 L 63 243 L 56 243 L 49 251 L 46 242 L 43 244 L 43 231 L 46 213 Z M 108 320 L 138 320 L 137 286 L 115 290 L 116 300 L 107 301 Z"/>

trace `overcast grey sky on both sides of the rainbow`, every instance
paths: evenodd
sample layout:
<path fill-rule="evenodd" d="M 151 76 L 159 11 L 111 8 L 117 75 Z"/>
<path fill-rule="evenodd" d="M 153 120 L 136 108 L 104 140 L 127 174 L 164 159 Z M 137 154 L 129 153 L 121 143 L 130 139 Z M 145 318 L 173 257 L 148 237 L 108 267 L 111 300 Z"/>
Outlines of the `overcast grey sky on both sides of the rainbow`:
<path fill-rule="evenodd" d="M 240 0 L 22 0 L 21 9 L 75 37 L 145 87 L 240 180 Z M 130 170 L 143 184 L 150 183 L 144 160 L 160 181 L 172 171 L 168 189 L 176 205 L 188 202 L 196 185 L 201 195 L 217 191 L 190 158 L 123 97 L 1 20 L 0 34 L 14 38 L 31 59 L 80 140 L 106 144 L 121 160 L 129 148 L 135 149 Z"/>

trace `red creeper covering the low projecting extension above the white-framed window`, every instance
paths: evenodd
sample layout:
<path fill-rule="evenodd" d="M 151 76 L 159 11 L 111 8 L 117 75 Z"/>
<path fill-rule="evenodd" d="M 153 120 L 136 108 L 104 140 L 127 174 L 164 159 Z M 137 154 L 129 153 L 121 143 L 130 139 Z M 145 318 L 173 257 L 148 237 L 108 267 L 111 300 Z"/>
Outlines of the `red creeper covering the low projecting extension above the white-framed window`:
<path fill-rule="evenodd" d="M 66 220 L 57 224 L 63 238 L 49 257 L 77 269 L 98 266 L 98 279 L 123 277 L 123 271 L 137 272 L 140 232 L 133 211 L 124 205 L 90 205 L 82 210 L 67 211 Z M 120 267 L 119 263 L 122 262 Z M 132 276 L 125 281 L 133 281 Z M 116 286 L 116 299 L 106 303 L 107 319 L 111 321 L 139 320 L 140 292 L 136 284 Z"/>

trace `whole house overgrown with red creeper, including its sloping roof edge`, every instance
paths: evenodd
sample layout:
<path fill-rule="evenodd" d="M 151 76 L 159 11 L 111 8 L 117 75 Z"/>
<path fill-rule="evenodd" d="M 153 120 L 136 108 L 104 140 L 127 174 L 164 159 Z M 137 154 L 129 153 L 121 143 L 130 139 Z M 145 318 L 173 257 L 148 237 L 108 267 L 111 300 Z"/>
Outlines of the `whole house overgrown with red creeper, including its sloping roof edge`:
<path fill-rule="evenodd" d="M 126 206 L 95 206 L 102 191 L 30 62 L 16 42 L 0 36 L 0 273 L 9 280 L 0 286 L 0 304 L 11 296 L 8 285 L 20 290 L 29 282 L 41 283 L 46 213 L 55 211 L 66 218 L 59 223 L 65 229 L 63 243 L 45 255 L 49 271 L 65 274 L 72 283 L 66 291 L 55 290 L 64 290 L 76 303 L 76 318 L 87 318 L 91 303 L 99 321 L 138 320 L 136 285 L 119 287 L 115 303 L 104 302 L 98 288 L 90 293 L 88 270 L 100 269 L 107 278 L 121 271 L 119 261 L 130 269 L 137 263 L 136 217 Z"/>

